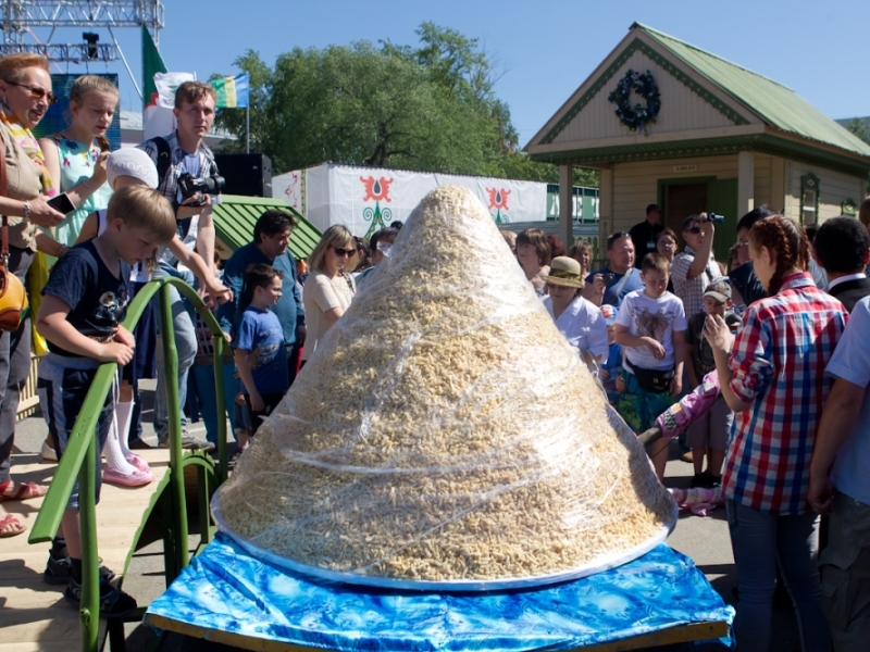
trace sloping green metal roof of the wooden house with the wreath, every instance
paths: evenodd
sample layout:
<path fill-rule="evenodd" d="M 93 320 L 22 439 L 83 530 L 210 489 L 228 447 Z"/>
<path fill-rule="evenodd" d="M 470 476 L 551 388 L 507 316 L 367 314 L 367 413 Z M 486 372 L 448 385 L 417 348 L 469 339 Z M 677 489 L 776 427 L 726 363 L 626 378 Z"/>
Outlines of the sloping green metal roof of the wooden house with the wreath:
<path fill-rule="evenodd" d="M 870 145 L 800 99 L 791 88 L 641 23 L 632 25 L 634 27 L 648 34 L 710 82 L 746 104 L 770 126 L 870 156 Z"/>

